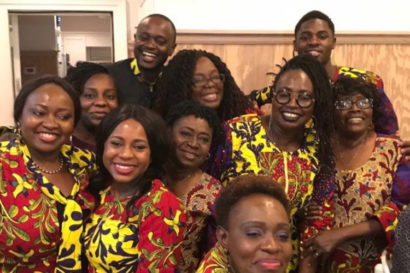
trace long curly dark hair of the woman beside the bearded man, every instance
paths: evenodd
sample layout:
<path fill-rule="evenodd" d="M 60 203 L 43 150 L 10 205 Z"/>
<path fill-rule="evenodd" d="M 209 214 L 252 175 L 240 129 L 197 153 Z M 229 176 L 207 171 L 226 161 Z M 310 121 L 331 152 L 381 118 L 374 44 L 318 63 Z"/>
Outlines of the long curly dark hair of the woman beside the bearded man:
<path fill-rule="evenodd" d="M 158 95 L 154 109 L 165 117 L 172 105 L 183 100 L 192 100 L 192 78 L 199 58 L 206 57 L 225 75 L 223 98 L 217 113 L 221 121 L 243 115 L 253 107 L 236 84 L 226 64 L 213 53 L 204 50 L 179 51 L 166 66 L 158 83 Z"/>

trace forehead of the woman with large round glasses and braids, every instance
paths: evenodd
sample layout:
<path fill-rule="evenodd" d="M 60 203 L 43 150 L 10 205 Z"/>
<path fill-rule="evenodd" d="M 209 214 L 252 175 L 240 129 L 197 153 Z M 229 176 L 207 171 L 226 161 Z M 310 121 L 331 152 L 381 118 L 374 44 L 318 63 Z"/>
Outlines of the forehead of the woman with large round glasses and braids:
<path fill-rule="evenodd" d="M 277 88 L 288 87 L 290 89 L 313 90 L 313 84 L 309 76 L 301 69 L 288 70 L 278 79 Z"/>

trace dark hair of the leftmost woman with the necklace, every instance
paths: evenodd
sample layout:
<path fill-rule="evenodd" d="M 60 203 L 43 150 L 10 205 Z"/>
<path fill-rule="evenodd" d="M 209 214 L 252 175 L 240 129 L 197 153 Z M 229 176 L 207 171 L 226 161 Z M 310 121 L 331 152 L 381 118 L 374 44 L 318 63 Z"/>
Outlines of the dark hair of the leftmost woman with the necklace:
<path fill-rule="evenodd" d="M 17 124 L 17 122 L 20 120 L 28 96 L 37 88 L 46 84 L 55 84 L 61 87 L 71 98 L 74 105 L 74 126 L 77 125 L 81 117 L 81 104 L 78 94 L 67 81 L 54 75 L 44 75 L 24 84 L 23 88 L 21 88 L 19 94 L 17 95 L 16 100 L 14 101 L 14 122 Z"/>

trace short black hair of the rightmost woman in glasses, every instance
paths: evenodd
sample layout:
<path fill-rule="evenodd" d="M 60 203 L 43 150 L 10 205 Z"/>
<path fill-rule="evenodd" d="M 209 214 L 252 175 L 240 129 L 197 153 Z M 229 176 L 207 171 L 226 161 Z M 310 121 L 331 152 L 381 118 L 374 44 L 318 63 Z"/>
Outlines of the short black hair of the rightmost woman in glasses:
<path fill-rule="evenodd" d="M 382 101 L 376 86 L 366 78 L 345 76 L 337 79 L 333 84 L 333 103 L 339 96 L 351 96 L 357 93 L 373 100 L 373 124 L 376 124 L 383 116 Z"/>

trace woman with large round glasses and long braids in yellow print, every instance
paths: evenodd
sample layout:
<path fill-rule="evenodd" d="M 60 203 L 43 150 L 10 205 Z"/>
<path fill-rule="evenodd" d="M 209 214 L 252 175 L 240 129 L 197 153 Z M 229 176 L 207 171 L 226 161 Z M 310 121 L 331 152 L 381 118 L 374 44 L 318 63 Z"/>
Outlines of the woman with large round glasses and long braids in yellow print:
<path fill-rule="evenodd" d="M 299 231 L 299 212 L 312 197 L 319 167 L 331 175 L 332 115 L 323 114 L 332 110 L 330 83 L 312 56 L 296 56 L 282 67 L 272 90 L 270 116 L 248 114 L 228 121 L 221 181 L 227 184 L 237 176 L 254 173 L 267 175 L 283 186 L 291 204 L 294 257 L 289 270 L 296 270 L 300 233 L 312 234 L 320 228 Z M 328 188 L 318 187 L 324 191 L 321 196 L 327 195 Z M 220 247 L 212 251 L 220 252 Z"/>

